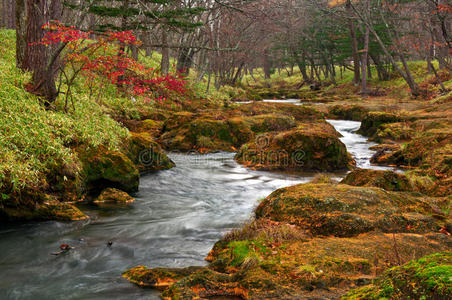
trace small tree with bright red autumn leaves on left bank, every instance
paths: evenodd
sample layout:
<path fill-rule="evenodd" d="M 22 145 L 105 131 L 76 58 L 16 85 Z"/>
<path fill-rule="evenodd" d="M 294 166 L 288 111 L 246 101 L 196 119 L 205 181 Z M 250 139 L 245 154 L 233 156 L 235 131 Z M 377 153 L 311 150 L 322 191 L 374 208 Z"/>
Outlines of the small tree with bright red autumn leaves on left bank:
<path fill-rule="evenodd" d="M 161 101 L 172 93 L 185 92 L 182 75 L 160 76 L 158 70 L 139 64 L 121 50 L 124 45 L 140 43 L 131 31 L 94 35 L 75 27 L 63 26 L 57 21 L 46 23 L 43 30 L 46 32 L 44 37 L 33 43 L 33 46 L 65 45 L 58 63 L 59 77 L 66 87 L 65 109 L 72 98 L 71 88 L 78 76 L 87 77 L 91 92 L 97 89 L 101 93 L 103 85 L 113 84 L 126 95 L 143 96 L 148 101 Z M 60 92 L 56 90 L 57 94 Z"/>

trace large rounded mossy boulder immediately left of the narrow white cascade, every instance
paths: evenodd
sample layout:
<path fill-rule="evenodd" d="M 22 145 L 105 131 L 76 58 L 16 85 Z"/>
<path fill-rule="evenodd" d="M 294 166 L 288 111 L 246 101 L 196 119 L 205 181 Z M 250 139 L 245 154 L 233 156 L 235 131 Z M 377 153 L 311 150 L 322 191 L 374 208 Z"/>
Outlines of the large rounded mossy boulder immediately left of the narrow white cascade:
<path fill-rule="evenodd" d="M 339 134 L 323 121 L 260 135 L 243 145 L 235 158 L 245 166 L 269 170 L 332 171 L 354 164 Z"/>

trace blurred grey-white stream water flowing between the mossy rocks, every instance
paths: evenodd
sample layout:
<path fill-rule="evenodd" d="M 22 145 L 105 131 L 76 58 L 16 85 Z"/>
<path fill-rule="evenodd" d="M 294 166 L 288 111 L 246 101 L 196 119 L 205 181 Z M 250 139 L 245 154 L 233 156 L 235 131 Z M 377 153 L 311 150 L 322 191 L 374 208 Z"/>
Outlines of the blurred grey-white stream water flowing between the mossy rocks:
<path fill-rule="evenodd" d="M 359 122 L 329 122 L 358 166 L 370 167 L 372 144 L 352 133 Z M 121 273 L 140 264 L 204 265 L 213 244 L 249 219 L 259 199 L 315 175 L 252 171 L 233 156 L 172 154 L 177 167 L 142 177 L 133 205 L 83 206 L 87 222 L 0 225 L 0 299 L 158 299 Z M 74 249 L 52 255 L 61 243 Z"/>

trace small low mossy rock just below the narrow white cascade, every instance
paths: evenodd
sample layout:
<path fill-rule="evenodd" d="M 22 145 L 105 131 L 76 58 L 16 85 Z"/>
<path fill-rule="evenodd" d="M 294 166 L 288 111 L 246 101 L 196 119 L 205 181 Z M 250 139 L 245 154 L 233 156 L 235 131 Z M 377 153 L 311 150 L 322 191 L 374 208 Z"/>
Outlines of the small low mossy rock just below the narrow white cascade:
<path fill-rule="evenodd" d="M 404 174 L 383 170 L 357 169 L 348 173 L 341 183 L 353 186 L 375 186 L 387 191 L 413 190 Z"/>

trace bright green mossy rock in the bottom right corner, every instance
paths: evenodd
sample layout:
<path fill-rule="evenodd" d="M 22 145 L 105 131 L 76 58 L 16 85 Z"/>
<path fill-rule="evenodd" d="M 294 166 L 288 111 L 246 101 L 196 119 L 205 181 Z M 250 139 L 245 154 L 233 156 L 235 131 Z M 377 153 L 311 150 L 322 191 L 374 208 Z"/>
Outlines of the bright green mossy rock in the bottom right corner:
<path fill-rule="evenodd" d="M 452 299 L 452 252 L 431 254 L 389 269 L 373 284 L 341 299 Z"/>

